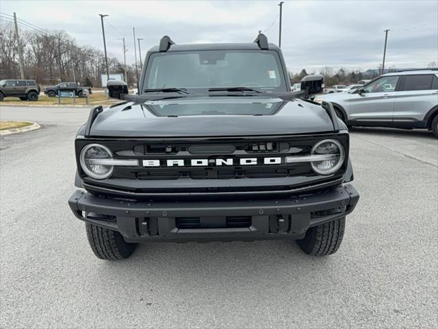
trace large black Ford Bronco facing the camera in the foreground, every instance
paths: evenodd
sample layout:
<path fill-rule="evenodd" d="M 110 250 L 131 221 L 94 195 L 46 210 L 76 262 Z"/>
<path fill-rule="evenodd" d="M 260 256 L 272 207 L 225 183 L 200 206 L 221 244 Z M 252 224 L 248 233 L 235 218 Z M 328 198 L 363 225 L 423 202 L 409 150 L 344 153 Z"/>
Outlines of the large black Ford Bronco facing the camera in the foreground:
<path fill-rule="evenodd" d="M 97 257 L 127 258 L 143 241 L 296 239 L 337 251 L 359 194 L 346 125 L 314 103 L 321 76 L 292 92 L 279 47 L 175 45 L 146 55 L 139 94 L 90 112 L 75 140 L 76 191 Z"/>

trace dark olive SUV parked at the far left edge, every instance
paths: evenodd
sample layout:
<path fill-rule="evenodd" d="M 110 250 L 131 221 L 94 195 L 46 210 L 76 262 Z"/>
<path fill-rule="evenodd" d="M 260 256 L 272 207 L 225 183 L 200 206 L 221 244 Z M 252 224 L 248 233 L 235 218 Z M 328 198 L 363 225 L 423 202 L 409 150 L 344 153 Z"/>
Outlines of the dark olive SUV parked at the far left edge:
<path fill-rule="evenodd" d="M 35 80 L 1 80 L 0 101 L 5 97 L 18 97 L 22 101 L 38 101 L 40 86 Z"/>

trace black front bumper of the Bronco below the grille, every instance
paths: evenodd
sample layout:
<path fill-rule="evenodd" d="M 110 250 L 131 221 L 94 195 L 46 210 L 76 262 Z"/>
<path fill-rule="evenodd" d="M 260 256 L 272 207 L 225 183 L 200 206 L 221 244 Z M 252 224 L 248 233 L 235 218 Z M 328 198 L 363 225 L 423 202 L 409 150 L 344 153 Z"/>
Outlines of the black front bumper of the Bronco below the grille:
<path fill-rule="evenodd" d="M 308 228 L 355 208 L 350 185 L 301 197 L 267 200 L 132 202 L 76 191 L 68 200 L 75 216 L 120 232 L 128 242 L 300 239 Z"/>

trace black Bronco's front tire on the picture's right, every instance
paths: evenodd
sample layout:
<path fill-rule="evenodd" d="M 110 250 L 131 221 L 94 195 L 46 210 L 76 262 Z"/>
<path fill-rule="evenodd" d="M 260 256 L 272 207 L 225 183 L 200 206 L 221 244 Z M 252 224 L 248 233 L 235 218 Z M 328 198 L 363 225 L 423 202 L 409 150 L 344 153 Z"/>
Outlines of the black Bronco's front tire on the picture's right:
<path fill-rule="evenodd" d="M 325 256 L 337 252 L 344 236 L 345 217 L 309 228 L 298 246 L 308 255 Z"/>

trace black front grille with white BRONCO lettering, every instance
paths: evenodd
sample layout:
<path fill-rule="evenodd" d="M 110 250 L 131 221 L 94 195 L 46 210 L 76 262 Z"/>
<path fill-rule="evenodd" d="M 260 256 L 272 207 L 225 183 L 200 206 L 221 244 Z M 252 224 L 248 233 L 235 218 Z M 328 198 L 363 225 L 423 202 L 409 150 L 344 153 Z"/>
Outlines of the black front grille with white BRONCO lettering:
<path fill-rule="evenodd" d="M 139 166 L 114 167 L 112 176 L 103 181 L 86 177 L 81 172 L 79 162 L 78 167 L 84 182 L 114 191 L 208 194 L 290 191 L 330 180 L 339 181 L 342 178 L 347 161 L 333 177 L 315 174 L 309 162 L 285 163 L 286 156 L 308 155 L 313 145 L 325 138 L 336 138 L 340 141 L 348 158 L 347 134 L 283 138 L 189 138 L 186 141 L 94 139 L 93 143 L 109 147 L 115 158 L 137 159 Z M 90 141 L 77 140 L 76 143 L 79 152 Z M 245 158 L 255 158 L 257 164 L 242 165 L 241 161 Z M 281 163 L 264 164 L 264 158 L 281 158 Z M 218 165 L 218 159 L 222 159 L 219 161 L 222 165 Z M 159 167 L 144 165 L 143 160 L 159 161 Z M 182 160 L 183 165 L 167 167 L 168 160 Z M 193 166 L 192 160 L 207 162 L 203 162 L 202 166 Z"/>

